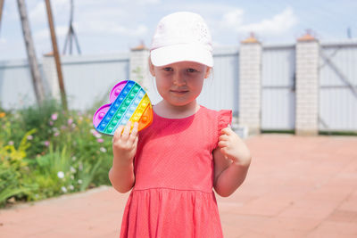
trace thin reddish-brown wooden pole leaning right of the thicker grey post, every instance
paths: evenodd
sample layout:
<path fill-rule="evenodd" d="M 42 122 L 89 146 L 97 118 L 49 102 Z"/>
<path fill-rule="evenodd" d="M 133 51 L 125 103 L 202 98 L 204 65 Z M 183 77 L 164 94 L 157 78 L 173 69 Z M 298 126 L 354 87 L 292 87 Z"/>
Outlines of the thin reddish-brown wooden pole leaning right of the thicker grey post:
<path fill-rule="evenodd" d="M 58 53 L 57 39 L 54 31 L 54 19 L 52 16 L 51 4 L 50 4 L 50 0 L 45 0 L 45 2 L 46 2 L 48 25 L 51 31 L 52 47 L 54 50 L 54 61 L 57 69 L 58 84 L 60 86 L 60 92 L 61 92 L 62 107 L 64 111 L 68 111 L 66 92 L 64 90 L 63 77 L 62 77 L 60 54 Z"/>

